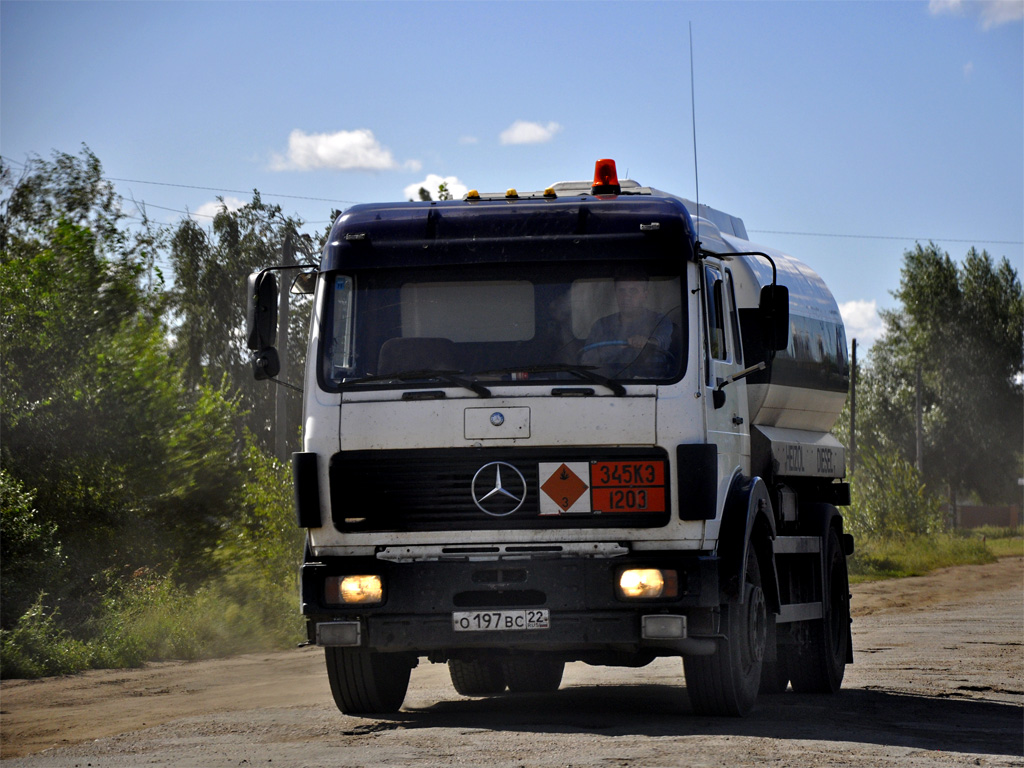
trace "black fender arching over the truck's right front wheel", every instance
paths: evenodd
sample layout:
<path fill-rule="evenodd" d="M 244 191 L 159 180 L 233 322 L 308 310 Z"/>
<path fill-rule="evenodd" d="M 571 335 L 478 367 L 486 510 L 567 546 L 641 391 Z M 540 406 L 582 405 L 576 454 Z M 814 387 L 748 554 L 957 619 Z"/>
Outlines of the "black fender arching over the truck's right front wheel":
<path fill-rule="evenodd" d="M 761 589 L 770 610 L 781 610 L 778 570 L 772 542 L 775 515 L 768 487 L 760 477 L 737 475 L 729 489 L 718 539 L 722 602 L 742 602 L 739 585 L 746 578 L 746 551 L 754 547 L 761 563 Z"/>

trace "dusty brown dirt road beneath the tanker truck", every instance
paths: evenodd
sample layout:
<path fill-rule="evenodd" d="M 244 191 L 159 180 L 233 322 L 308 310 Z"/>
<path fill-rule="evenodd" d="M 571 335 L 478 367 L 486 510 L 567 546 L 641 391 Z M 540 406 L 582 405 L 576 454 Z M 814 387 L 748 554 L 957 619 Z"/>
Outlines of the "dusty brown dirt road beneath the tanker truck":
<path fill-rule="evenodd" d="M 350 718 L 323 652 L 6 681 L 3 768 L 20 766 L 1024 766 L 1024 560 L 857 585 L 838 696 L 694 716 L 679 659 L 568 665 L 557 693 L 460 696 L 413 672 L 402 712 Z"/>

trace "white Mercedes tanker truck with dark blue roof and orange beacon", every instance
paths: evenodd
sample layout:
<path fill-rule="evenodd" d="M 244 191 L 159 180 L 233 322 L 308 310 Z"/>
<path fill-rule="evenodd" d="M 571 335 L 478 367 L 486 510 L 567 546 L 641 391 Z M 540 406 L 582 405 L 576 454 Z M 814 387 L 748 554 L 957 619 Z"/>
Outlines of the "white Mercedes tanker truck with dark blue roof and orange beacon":
<path fill-rule="evenodd" d="M 276 375 L 278 269 L 249 280 Z M 295 511 L 338 708 L 682 658 L 742 716 L 852 663 L 833 295 L 740 218 L 622 180 L 356 205 L 318 268 Z M 294 289 L 293 289 L 294 290 Z"/>

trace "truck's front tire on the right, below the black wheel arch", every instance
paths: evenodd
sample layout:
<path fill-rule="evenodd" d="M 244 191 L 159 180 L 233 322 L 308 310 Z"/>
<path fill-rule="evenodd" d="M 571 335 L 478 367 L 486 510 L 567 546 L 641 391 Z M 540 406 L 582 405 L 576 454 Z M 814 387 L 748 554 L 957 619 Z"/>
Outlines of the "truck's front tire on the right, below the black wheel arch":
<path fill-rule="evenodd" d="M 722 634 L 710 656 L 683 656 L 686 690 L 698 715 L 741 717 L 754 708 L 761 685 L 768 608 L 754 547 L 746 550 L 742 603 L 722 605 Z"/>

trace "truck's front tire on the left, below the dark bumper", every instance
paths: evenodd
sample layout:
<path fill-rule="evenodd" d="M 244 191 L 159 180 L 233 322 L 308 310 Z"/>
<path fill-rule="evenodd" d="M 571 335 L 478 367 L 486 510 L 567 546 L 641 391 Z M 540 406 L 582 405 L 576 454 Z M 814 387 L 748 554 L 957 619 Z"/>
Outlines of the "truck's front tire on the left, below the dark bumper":
<path fill-rule="evenodd" d="M 401 709 L 413 665 L 394 653 L 325 648 L 327 675 L 338 709 L 346 715 L 388 714 Z"/>

